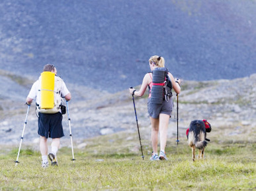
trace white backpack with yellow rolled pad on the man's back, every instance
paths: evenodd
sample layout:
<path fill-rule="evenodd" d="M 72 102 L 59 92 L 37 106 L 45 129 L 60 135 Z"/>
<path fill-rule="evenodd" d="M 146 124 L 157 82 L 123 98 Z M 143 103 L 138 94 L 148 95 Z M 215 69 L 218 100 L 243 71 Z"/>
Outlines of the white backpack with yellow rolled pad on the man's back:
<path fill-rule="evenodd" d="M 42 72 L 38 81 L 40 89 L 36 94 L 36 110 L 40 113 L 60 112 L 62 78 L 52 72 Z"/>

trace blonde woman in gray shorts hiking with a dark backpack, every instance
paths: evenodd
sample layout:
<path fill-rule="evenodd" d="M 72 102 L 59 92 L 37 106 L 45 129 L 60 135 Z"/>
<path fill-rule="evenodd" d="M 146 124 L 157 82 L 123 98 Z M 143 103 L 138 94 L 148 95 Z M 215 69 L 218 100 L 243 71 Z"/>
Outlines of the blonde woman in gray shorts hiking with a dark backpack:
<path fill-rule="evenodd" d="M 155 85 L 156 88 L 161 86 L 163 83 L 153 83 L 153 74 L 157 74 L 157 70 L 166 70 L 166 74 L 171 80 L 171 86 L 173 90 L 177 94 L 181 92 L 181 88 L 179 84 L 181 80 L 173 78 L 173 75 L 167 71 L 165 68 L 165 59 L 163 57 L 159 57 L 154 55 L 149 58 L 149 67 L 153 72 L 148 72 L 142 81 L 142 86 L 140 90 L 135 90 L 134 88 L 130 88 L 130 94 L 136 96 L 142 96 L 146 92 L 147 87 L 149 87 L 149 96 L 148 96 L 148 113 L 151 121 L 151 144 L 153 148 L 152 155 L 150 157 L 151 161 L 156 160 L 167 160 L 167 156 L 165 155 L 165 146 L 167 143 L 167 128 L 169 124 L 169 118 L 171 117 L 171 112 L 173 111 L 173 100 L 171 95 L 164 96 L 164 89 L 161 89 L 161 103 L 154 104 L 154 100 L 152 98 L 152 88 Z M 157 78 L 154 77 L 154 79 Z M 167 78 L 165 78 L 166 80 Z M 160 87 L 159 87 L 160 88 Z M 165 86 L 166 88 L 166 86 Z M 166 99 L 167 98 L 167 99 Z M 158 143 L 158 132 L 160 132 L 160 152 L 159 155 L 157 153 L 157 143 Z"/>

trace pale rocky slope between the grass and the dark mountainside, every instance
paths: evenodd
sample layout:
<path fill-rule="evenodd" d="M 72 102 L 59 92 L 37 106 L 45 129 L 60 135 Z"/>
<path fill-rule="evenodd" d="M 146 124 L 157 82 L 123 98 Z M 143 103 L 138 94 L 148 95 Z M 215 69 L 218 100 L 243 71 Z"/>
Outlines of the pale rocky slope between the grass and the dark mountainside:
<path fill-rule="evenodd" d="M 0 73 L 0 144 L 19 144 L 26 105 L 24 100 L 34 79 L 22 78 L 10 72 Z M 8 85 L 7 85 L 8 84 Z M 9 85 L 10 84 L 10 85 Z M 110 94 L 85 86 L 67 84 L 73 95 L 69 102 L 71 128 L 75 144 L 83 139 L 119 131 L 136 132 L 132 97 L 128 90 Z M 138 88 L 138 87 L 137 87 Z M 169 137 L 177 134 L 177 102 L 174 98 Z M 137 97 L 136 110 L 142 139 L 149 139 L 150 123 L 147 98 Z M 212 128 L 228 128 L 227 136 L 250 132 L 256 127 L 256 74 L 234 80 L 186 81 L 179 95 L 179 133 L 191 120 L 208 119 Z M 24 144 L 37 143 L 37 117 L 32 104 L 24 134 Z M 64 115 L 64 140 L 69 140 L 67 115 Z"/>

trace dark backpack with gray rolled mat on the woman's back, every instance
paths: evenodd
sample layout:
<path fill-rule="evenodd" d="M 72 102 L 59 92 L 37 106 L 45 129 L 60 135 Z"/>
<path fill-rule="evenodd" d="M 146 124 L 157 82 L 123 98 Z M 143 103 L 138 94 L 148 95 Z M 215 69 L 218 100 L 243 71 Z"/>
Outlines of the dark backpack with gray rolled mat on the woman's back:
<path fill-rule="evenodd" d="M 171 79 L 168 76 L 167 68 L 155 68 L 152 71 L 152 90 L 151 103 L 163 103 L 163 100 L 169 101 L 172 96 Z"/>

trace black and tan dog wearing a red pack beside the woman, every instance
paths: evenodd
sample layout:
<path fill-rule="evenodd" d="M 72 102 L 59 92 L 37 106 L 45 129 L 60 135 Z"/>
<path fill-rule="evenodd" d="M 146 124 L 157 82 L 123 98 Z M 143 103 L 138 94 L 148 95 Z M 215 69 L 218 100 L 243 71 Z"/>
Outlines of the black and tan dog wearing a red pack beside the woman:
<path fill-rule="evenodd" d="M 210 132 L 212 127 L 210 123 L 204 120 L 191 121 L 189 128 L 187 129 L 188 144 L 192 149 L 192 161 L 195 160 L 195 150 L 199 150 L 198 159 L 204 158 L 204 150 L 207 146 L 206 141 L 210 141 L 206 138 L 206 132 Z"/>

